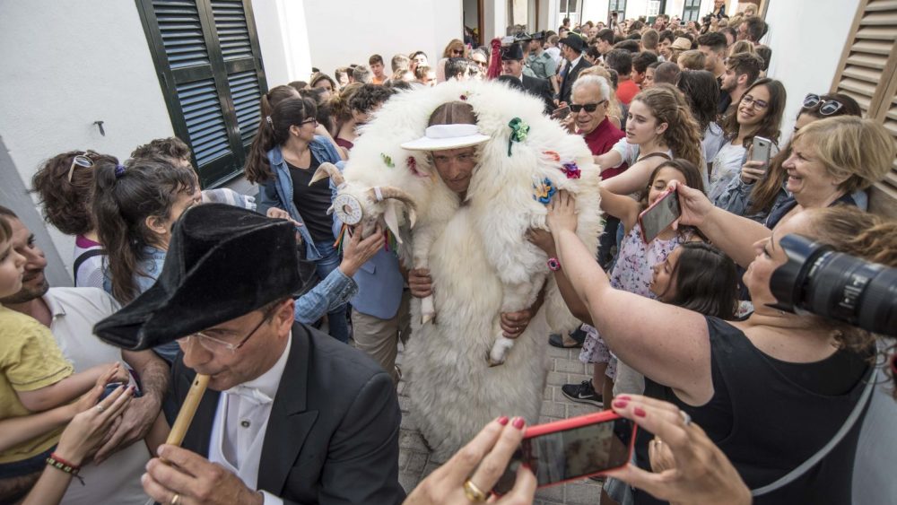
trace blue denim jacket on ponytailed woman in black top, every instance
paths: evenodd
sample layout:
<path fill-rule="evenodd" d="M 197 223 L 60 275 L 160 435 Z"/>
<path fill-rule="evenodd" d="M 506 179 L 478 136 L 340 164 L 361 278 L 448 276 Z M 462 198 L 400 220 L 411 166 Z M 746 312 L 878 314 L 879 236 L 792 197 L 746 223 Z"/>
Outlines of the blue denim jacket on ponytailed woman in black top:
<path fill-rule="evenodd" d="M 309 144 L 309 149 L 321 163 L 337 163 L 341 161 L 333 144 L 327 142 L 327 139 L 323 136 L 316 136 L 315 140 Z M 292 201 L 290 169 L 287 168 L 286 161 L 283 161 L 283 152 L 281 152 L 279 145 L 268 151 L 268 162 L 271 163 L 271 171 L 274 174 L 274 178 L 267 180 L 258 187 L 258 206 L 260 208 L 277 207 L 283 209 L 290 213 L 290 217 L 293 220 L 302 222 L 299 209 L 296 208 Z M 330 186 L 331 190 L 335 190 L 333 183 Z M 304 222 L 302 223 L 304 224 Z M 321 254 L 318 252 L 318 248 L 315 247 L 315 242 L 311 239 L 309 230 L 305 226 L 298 227 L 298 230 L 302 237 L 302 242 L 305 243 L 306 259 L 311 261 L 320 259 Z"/>

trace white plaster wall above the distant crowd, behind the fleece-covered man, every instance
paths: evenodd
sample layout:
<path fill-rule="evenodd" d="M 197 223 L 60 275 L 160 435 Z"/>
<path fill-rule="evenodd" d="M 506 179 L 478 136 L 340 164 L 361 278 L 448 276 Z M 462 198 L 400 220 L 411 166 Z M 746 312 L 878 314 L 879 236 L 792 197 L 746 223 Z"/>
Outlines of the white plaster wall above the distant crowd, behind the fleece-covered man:
<path fill-rule="evenodd" d="M 368 57 L 375 53 L 383 57 L 388 67 L 394 55 L 407 55 L 415 50 L 424 51 L 431 63 L 435 63 L 448 40 L 463 38 L 461 1 L 305 1 L 311 65 L 332 76 L 338 66 L 368 65 Z M 502 32 L 506 17 L 502 14 Z M 491 32 L 490 24 L 486 25 L 488 40 L 494 28 Z M 291 29 L 303 30 L 303 27 Z"/>

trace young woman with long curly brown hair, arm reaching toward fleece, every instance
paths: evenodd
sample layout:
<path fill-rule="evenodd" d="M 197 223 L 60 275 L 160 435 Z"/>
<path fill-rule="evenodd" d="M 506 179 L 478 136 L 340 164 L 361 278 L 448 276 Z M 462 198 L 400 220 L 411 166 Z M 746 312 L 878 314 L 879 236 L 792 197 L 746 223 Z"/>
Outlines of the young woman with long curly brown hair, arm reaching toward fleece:
<path fill-rule="evenodd" d="M 668 84 L 641 91 L 632 99 L 626 120 L 626 137 L 595 162 L 602 170 L 629 164 L 629 169 L 603 183 L 617 195 L 629 195 L 645 187 L 658 166 L 673 158 L 703 165 L 701 132 L 681 92 Z M 701 180 L 706 180 L 701 170 Z"/>

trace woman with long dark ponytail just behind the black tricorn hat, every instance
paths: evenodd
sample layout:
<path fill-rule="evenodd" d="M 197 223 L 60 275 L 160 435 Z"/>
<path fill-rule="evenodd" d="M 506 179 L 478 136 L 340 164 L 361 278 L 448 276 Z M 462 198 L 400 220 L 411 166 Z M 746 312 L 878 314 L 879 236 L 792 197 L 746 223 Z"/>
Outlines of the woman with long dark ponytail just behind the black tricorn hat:
<path fill-rule="evenodd" d="M 95 172 L 93 215 L 109 253 L 103 289 L 125 305 L 155 283 L 171 226 L 202 196 L 194 171 L 179 165 L 135 159 L 103 162 Z M 175 342 L 154 349 L 169 363 L 178 350 Z"/>

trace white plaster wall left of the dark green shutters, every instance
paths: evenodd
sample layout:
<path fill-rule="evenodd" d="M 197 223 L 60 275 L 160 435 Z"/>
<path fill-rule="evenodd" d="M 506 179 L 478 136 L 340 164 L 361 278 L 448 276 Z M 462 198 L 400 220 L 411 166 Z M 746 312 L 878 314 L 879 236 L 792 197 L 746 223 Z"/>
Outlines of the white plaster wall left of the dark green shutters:
<path fill-rule="evenodd" d="M 0 136 L 25 187 L 58 152 L 125 158 L 174 135 L 135 2 L 4 0 L 0 48 Z M 48 228 L 70 271 L 74 239 Z"/>

